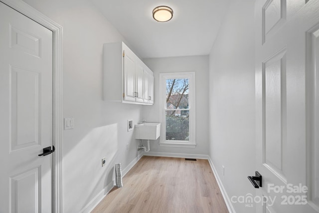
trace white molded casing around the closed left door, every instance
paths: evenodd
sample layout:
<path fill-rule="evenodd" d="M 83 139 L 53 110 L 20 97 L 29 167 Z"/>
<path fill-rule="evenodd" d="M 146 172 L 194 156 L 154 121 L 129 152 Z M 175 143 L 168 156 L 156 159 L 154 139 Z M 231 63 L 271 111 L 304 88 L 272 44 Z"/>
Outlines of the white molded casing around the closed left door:
<path fill-rule="evenodd" d="M 53 32 L 53 213 L 62 213 L 62 26 L 22 0 L 0 0 Z"/>

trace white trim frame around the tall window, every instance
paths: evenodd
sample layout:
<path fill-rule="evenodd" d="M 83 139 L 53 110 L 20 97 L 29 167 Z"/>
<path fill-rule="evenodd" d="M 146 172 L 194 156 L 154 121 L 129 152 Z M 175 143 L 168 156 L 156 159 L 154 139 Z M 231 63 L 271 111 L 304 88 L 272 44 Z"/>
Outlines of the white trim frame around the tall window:
<path fill-rule="evenodd" d="M 168 141 L 166 140 L 166 79 L 171 78 L 188 78 L 189 80 L 189 141 Z M 160 146 L 161 147 L 179 147 L 179 148 L 195 148 L 196 146 L 196 119 L 195 119 L 195 72 L 169 72 L 160 73 L 160 108 L 161 108 L 161 130 L 160 130 Z"/>

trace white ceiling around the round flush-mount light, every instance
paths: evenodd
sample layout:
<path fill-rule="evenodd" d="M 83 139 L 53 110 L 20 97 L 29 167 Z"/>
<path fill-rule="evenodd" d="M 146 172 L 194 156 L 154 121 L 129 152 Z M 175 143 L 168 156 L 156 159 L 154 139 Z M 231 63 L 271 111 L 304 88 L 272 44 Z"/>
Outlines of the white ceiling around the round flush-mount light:
<path fill-rule="evenodd" d="M 91 0 L 142 58 L 207 55 L 229 0 Z M 168 22 L 155 7 L 173 9 Z"/>

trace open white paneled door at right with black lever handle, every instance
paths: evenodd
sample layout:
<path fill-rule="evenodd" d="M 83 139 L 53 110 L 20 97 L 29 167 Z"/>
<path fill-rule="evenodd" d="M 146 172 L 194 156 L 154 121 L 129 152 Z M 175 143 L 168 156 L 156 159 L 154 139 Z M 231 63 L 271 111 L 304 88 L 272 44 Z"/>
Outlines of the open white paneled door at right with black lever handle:
<path fill-rule="evenodd" d="M 255 19 L 257 212 L 319 212 L 319 1 L 256 0 Z"/>

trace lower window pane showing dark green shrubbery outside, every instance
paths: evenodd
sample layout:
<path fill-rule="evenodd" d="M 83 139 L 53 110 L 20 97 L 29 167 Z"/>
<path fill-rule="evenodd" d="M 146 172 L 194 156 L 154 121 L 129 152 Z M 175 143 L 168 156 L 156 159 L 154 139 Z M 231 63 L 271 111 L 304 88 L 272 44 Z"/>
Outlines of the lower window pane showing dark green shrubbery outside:
<path fill-rule="evenodd" d="M 189 110 L 166 111 L 166 140 L 189 141 Z"/>

